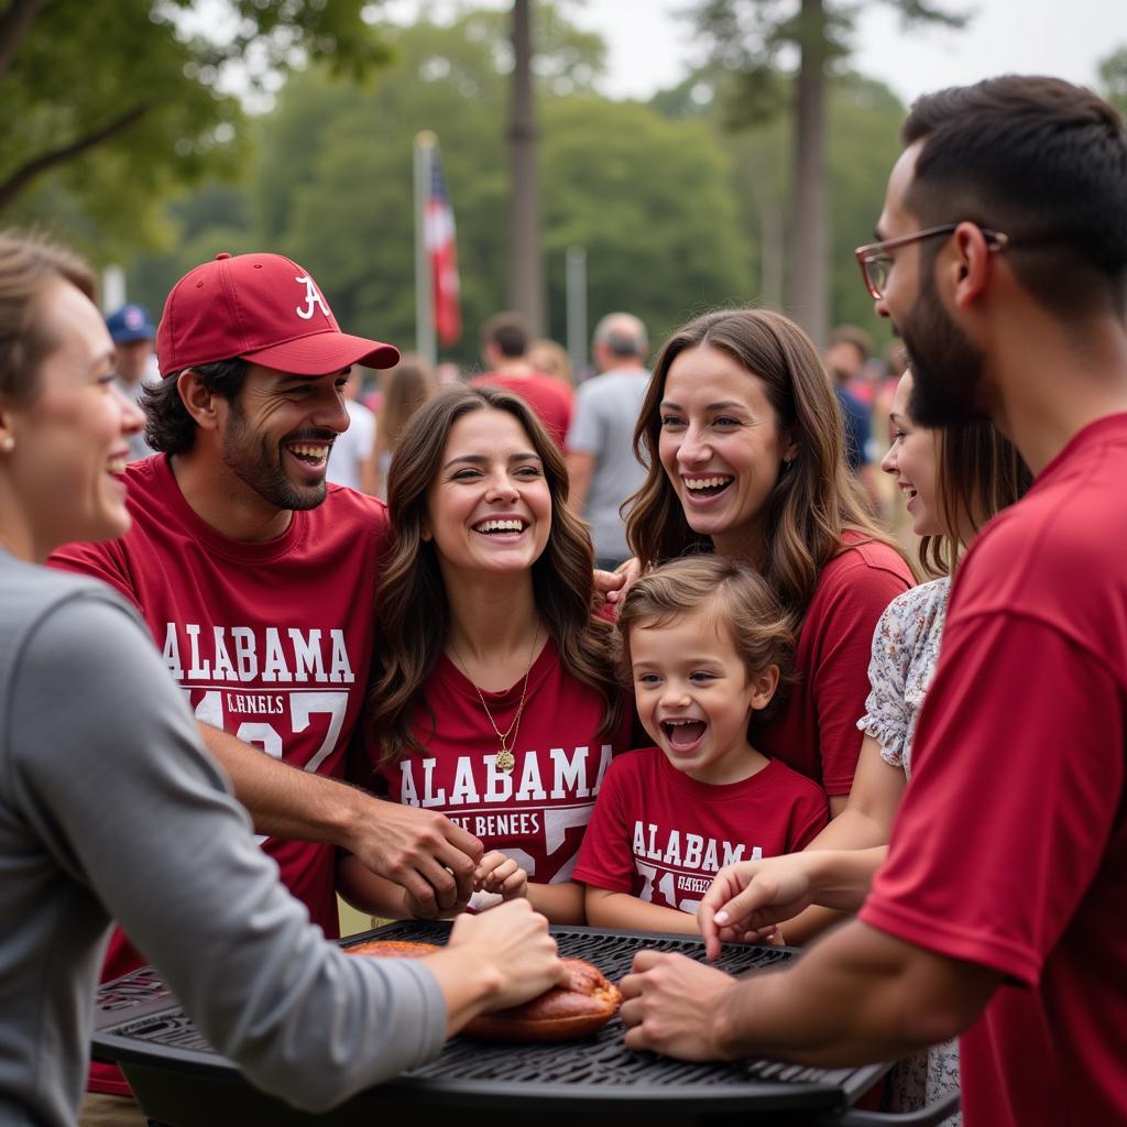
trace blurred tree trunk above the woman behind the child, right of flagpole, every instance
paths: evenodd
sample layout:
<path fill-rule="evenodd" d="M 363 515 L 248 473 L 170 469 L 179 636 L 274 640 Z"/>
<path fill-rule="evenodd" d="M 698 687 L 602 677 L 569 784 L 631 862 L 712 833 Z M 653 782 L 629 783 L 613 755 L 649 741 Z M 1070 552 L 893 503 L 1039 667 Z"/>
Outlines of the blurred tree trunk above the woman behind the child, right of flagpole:
<path fill-rule="evenodd" d="M 825 11 L 802 0 L 796 113 L 795 260 L 791 313 L 823 347 L 829 331 L 829 213 L 825 158 Z"/>

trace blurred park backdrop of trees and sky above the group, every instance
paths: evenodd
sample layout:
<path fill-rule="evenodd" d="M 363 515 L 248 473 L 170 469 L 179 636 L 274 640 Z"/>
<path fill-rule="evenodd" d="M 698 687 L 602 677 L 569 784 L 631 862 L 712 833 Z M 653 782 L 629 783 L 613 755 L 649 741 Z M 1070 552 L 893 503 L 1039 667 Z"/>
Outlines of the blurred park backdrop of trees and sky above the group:
<path fill-rule="evenodd" d="M 534 177 L 512 171 L 521 9 Z M 628 309 L 659 341 L 755 303 L 819 343 L 844 321 L 882 345 L 851 251 L 871 240 L 907 99 L 934 76 L 1022 69 L 1127 104 L 1127 5 L 0 0 L 0 225 L 119 265 L 157 316 L 219 251 L 286 254 L 349 331 L 411 348 L 411 147 L 431 130 L 465 326 L 442 360 L 478 363 L 481 321 L 527 298 L 522 257 L 538 328 L 565 339 L 569 247 L 592 322 Z M 531 232 L 514 230 L 520 193 Z"/>

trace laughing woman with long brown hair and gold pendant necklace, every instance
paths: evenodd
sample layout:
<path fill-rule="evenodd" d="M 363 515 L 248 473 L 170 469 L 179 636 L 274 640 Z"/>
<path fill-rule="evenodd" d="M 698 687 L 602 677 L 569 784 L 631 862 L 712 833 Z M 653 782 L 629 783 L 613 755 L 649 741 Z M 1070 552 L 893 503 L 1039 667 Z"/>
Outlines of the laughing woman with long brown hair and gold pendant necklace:
<path fill-rule="evenodd" d="M 633 713 L 613 628 L 592 615 L 593 549 L 567 507 L 564 458 L 518 397 L 451 388 L 405 431 L 388 500 L 369 709 L 379 787 L 515 861 L 553 922 L 582 922 L 568 878 Z M 495 863 L 486 890 L 518 891 Z M 341 879 L 358 907 L 415 914 L 358 866 Z"/>

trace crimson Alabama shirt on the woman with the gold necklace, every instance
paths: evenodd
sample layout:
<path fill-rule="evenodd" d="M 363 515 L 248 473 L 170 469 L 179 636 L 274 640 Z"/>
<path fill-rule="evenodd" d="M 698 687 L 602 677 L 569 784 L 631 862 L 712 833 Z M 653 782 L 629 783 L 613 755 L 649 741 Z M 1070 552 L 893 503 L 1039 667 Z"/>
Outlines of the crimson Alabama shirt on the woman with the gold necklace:
<path fill-rule="evenodd" d="M 482 692 L 502 731 L 513 722 L 523 689 L 522 677 L 504 692 Z M 443 656 L 415 710 L 414 730 L 427 753 L 381 765 L 372 745 L 375 778 L 367 782 L 397 802 L 446 815 L 487 851 L 516 860 L 530 880 L 569 880 L 611 758 L 631 743 L 632 706 L 624 701 L 618 727 L 598 736 L 603 709 L 602 695 L 567 673 L 549 639 L 529 674 L 513 737 L 516 763 L 511 772 L 500 771 L 497 736 L 481 699 Z"/>

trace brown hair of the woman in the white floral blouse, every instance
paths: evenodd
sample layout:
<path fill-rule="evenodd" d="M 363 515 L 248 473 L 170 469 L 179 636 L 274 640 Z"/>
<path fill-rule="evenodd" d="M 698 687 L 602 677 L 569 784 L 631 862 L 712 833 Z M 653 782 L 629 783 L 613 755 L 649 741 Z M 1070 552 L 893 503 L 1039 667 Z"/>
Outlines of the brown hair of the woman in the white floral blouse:
<path fill-rule="evenodd" d="M 920 562 L 931 576 L 953 575 L 966 520 L 978 530 L 1021 500 L 1033 476 L 1017 447 L 990 419 L 970 419 L 935 432 L 935 496 L 943 535 L 920 540 Z"/>

